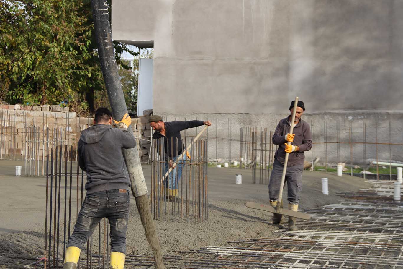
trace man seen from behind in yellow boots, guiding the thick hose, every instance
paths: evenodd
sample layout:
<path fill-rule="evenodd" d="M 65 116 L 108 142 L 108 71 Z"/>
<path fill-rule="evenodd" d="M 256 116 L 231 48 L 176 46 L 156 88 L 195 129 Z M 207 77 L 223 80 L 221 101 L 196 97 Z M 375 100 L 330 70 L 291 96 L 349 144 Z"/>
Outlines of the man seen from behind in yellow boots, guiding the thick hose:
<path fill-rule="evenodd" d="M 87 174 L 87 193 L 67 244 L 63 269 L 77 268 L 81 248 L 104 217 L 110 223 L 110 268 L 123 269 L 125 265 L 130 179 L 122 148 L 133 148 L 136 141 L 127 130 L 131 124 L 127 113 L 114 123 L 118 128 L 111 126 L 110 111 L 100 108 L 94 125 L 81 132 L 79 166 Z"/>

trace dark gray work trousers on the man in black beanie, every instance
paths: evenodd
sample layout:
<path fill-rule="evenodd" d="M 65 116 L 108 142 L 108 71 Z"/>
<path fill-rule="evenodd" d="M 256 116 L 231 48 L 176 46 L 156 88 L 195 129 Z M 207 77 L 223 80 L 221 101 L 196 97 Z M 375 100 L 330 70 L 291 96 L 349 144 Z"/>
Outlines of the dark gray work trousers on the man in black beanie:
<path fill-rule="evenodd" d="M 273 171 L 270 176 L 269 182 L 269 198 L 270 201 L 278 200 L 278 193 L 280 191 L 281 177 L 283 175 L 284 165 L 274 159 Z M 299 204 L 302 189 L 302 171 L 303 164 L 287 167 L 285 173 L 285 183 L 288 189 L 288 202 L 289 204 Z"/>

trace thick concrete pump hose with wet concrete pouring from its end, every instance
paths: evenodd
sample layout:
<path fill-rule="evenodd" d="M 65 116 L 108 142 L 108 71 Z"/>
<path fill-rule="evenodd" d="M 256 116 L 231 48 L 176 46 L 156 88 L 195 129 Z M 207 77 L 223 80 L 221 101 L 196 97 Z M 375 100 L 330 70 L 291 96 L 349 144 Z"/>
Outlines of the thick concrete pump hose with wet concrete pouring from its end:
<path fill-rule="evenodd" d="M 101 70 L 104 76 L 110 107 L 112 108 L 113 117 L 120 120 L 123 115 L 127 113 L 127 107 L 122 84 L 120 84 L 116 59 L 114 57 L 108 2 L 107 0 L 91 0 L 91 4 L 95 36 L 98 43 L 98 55 L 101 61 Z M 129 131 L 133 131 L 131 126 L 129 126 Z M 165 268 L 162 261 L 161 246 L 158 242 L 154 222 L 150 213 L 150 206 L 147 199 L 147 186 L 145 185 L 144 174 L 137 153 L 137 146 L 125 151 L 125 162 L 131 181 L 131 191 L 136 199 L 141 223 L 145 229 L 145 236 L 154 252 L 156 267 L 158 269 Z"/>

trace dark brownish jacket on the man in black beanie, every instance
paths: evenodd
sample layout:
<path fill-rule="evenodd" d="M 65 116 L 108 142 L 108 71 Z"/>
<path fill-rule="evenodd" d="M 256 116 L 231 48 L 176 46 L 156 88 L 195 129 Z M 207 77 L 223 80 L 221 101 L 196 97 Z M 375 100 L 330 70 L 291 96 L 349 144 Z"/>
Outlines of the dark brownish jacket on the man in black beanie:
<path fill-rule="evenodd" d="M 290 128 L 291 125 L 288 117 L 284 118 L 278 122 L 273 135 L 273 144 L 278 145 L 274 158 L 282 164 L 284 164 L 285 161 L 284 149 L 285 143 L 287 143 L 285 135 L 290 132 Z M 299 151 L 294 151 L 289 154 L 287 167 L 303 164 L 305 159 L 304 151 L 308 151 L 312 147 L 311 128 L 307 122 L 300 119 L 294 127 L 293 133 L 295 134 L 295 137 L 294 141 L 291 142 L 291 145 L 299 146 Z"/>

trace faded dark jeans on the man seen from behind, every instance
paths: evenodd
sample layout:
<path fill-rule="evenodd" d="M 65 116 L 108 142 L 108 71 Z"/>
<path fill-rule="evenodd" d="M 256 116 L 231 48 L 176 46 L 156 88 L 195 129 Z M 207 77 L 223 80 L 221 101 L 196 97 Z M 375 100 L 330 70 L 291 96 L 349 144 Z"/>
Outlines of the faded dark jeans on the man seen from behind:
<path fill-rule="evenodd" d="M 125 192 L 123 192 L 125 191 Z M 110 223 L 110 250 L 126 254 L 126 231 L 129 221 L 129 192 L 113 189 L 85 195 L 83 206 L 69 239 L 69 246 L 82 249 L 102 218 Z"/>

